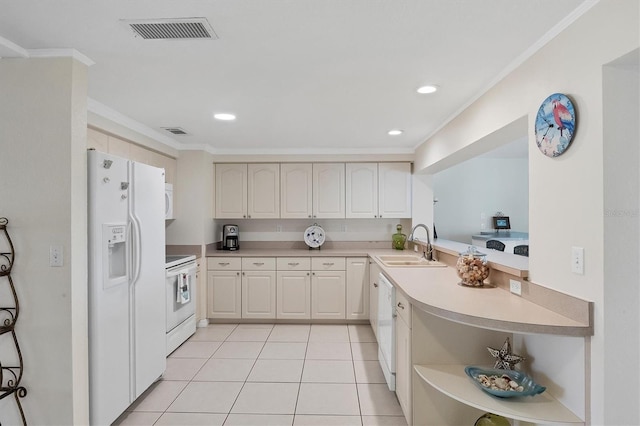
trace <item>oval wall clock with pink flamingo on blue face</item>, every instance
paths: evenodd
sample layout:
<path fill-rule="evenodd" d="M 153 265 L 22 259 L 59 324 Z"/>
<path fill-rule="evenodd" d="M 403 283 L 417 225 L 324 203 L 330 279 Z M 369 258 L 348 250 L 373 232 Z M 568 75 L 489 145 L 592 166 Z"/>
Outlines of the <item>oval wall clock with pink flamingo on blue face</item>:
<path fill-rule="evenodd" d="M 575 131 L 576 111 L 566 95 L 554 93 L 542 102 L 536 116 L 536 143 L 544 155 L 562 155 Z"/>

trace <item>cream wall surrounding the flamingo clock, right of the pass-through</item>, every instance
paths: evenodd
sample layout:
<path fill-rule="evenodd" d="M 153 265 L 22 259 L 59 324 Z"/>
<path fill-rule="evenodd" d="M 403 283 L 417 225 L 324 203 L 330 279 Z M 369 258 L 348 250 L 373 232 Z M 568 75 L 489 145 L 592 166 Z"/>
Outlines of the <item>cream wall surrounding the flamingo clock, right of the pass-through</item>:
<path fill-rule="evenodd" d="M 589 368 L 586 398 L 590 400 L 585 417 L 593 424 L 606 423 L 605 377 L 619 368 L 606 363 L 604 356 L 603 153 L 613 141 L 603 141 L 602 69 L 638 48 L 638 8 L 636 1 L 597 3 L 421 145 L 415 158 L 416 170 L 428 170 L 523 116 L 528 117 L 529 143 L 534 144 L 533 123 L 540 103 L 555 92 L 573 98 L 579 127 L 570 149 L 555 159 L 530 151 L 529 232 L 533 249 L 529 269 L 532 281 L 595 302 L 595 335 L 585 345 L 590 358 L 585 364 Z M 626 247 L 627 238 L 618 244 Z M 571 272 L 572 246 L 585 249 L 584 275 Z M 638 280 L 620 285 L 637 286 Z M 626 338 L 622 330 L 607 333 L 606 340 Z M 539 339 L 538 346 L 540 340 L 545 339 Z M 553 347 L 551 339 L 548 344 Z M 566 362 L 561 356 L 557 358 L 556 362 Z M 630 386 L 640 386 L 638 377 L 630 380 Z M 568 406 L 579 410 L 585 405 L 575 385 L 563 385 L 562 400 Z M 633 412 L 629 419 L 637 418 L 637 407 L 629 410 Z"/>

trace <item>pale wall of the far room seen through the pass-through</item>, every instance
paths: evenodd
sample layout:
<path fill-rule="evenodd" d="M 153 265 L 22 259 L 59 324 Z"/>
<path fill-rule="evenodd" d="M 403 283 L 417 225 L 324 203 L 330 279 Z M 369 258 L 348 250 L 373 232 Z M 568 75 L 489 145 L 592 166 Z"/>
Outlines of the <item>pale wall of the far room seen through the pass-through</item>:
<path fill-rule="evenodd" d="M 433 175 L 438 237 L 471 244 L 471 236 L 493 229 L 492 217 L 509 216 L 511 230 L 529 231 L 527 159 L 477 158 Z"/>

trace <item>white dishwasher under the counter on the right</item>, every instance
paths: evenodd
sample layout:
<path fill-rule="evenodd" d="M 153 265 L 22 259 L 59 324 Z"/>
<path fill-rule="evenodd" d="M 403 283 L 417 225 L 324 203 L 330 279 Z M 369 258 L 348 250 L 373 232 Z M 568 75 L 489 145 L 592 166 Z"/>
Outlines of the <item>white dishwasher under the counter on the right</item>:
<path fill-rule="evenodd" d="M 378 361 L 389 390 L 396 390 L 396 289 L 382 274 L 378 280 Z"/>

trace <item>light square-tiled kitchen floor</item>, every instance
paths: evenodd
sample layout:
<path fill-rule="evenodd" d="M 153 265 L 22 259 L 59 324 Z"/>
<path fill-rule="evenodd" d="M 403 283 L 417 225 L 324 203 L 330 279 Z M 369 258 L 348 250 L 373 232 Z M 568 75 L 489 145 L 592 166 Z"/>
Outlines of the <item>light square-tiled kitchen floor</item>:
<path fill-rule="evenodd" d="M 368 325 L 210 324 L 117 425 L 406 426 Z"/>

